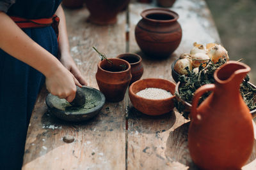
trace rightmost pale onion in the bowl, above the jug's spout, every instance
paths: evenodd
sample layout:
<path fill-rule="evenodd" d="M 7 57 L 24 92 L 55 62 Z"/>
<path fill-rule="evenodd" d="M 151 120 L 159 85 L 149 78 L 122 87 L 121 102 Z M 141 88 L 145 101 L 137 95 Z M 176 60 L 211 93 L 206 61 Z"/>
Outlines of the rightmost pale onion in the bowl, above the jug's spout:
<path fill-rule="evenodd" d="M 212 62 L 216 63 L 220 58 L 229 59 L 227 50 L 221 45 L 213 46 L 208 53 Z"/>

